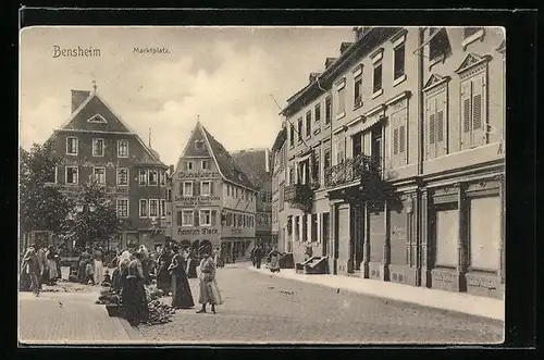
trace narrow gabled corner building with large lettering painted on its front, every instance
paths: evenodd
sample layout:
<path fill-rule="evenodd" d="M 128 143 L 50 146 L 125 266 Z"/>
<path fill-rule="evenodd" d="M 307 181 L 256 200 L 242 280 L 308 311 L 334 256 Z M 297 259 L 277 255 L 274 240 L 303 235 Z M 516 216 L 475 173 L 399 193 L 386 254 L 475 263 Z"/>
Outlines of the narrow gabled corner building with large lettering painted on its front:
<path fill-rule="evenodd" d="M 255 241 L 257 190 L 228 151 L 197 123 L 172 176 L 172 240 L 220 248 L 225 259 Z"/>

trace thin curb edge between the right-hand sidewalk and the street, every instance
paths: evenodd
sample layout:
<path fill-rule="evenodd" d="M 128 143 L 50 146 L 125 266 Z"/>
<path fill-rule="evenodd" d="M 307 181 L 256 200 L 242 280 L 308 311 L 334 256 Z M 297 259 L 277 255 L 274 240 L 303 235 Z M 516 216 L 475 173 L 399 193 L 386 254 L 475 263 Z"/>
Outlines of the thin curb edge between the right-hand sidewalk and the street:
<path fill-rule="evenodd" d="M 260 273 L 262 275 L 273 275 L 275 277 L 282 277 L 282 278 L 285 278 L 285 280 L 293 280 L 293 281 L 296 281 L 296 282 L 300 282 L 300 283 L 306 283 L 306 284 L 312 284 L 312 285 L 317 285 L 317 286 L 321 286 L 321 287 L 326 287 L 326 288 L 341 288 L 345 291 L 348 291 L 348 293 L 351 293 L 351 294 L 360 294 L 360 295 L 364 295 L 364 296 L 368 296 L 368 297 L 372 297 L 372 298 L 375 298 L 375 299 L 382 299 L 384 301 L 391 301 L 392 303 L 397 303 L 397 305 L 408 305 L 410 307 L 413 307 L 413 308 L 420 308 L 420 309 L 433 309 L 433 310 L 436 310 L 441 313 L 446 313 L 446 314 L 452 314 L 452 315 L 456 315 L 456 316 L 470 316 L 471 319 L 485 319 L 486 321 L 493 321 L 493 322 L 498 322 L 498 323 L 504 323 L 505 320 L 504 319 L 498 319 L 496 316 L 492 316 L 492 315 L 485 315 L 485 314 L 475 314 L 475 313 L 471 313 L 471 312 L 465 312 L 465 311 L 461 311 L 461 310 L 457 310 L 457 309 L 447 309 L 447 308 L 441 308 L 438 306 L 430 306 L 430 305 L 422 305 L 422 303 L 419 303 L 417 301 L 410 301 L 410 300 L 407 300 L 407 299 L 398 299 L 398 298 L 392 298 L 392 297 L 385 297 L 385 296 L 381 296 L 381 295 L 378 295 L 378 294 L 373 294 L 373 293 L 370 293 L 370 291 L 364 291 L 364 290 L 356 290 L 356 289 L 350 289 L 350 288 L 346 288 L 346 287 L 338 287 L 338 286 L 331 286 L 329 284 L 322 284 L 322 283 L 319 283 L 319 282 L 309 282 L 309 281 L 306 281 L 304 278 L 297 278 L 297 277 L 292 277 L 292 276 L 285 276 L 284 274 L 282 274 L 281 272 L 280 273 L 265 273 L 262 269 L 255 269 L 252 266 L 248 266 L 247 268 L 248 270 L 250 271 L 254 271 L 256 273 Z"/>

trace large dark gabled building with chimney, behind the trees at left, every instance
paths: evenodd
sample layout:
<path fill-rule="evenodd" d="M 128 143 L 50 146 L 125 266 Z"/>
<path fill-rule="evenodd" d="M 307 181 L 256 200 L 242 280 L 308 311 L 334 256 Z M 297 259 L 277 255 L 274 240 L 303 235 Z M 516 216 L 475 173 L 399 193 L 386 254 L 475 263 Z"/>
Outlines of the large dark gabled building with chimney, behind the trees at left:
<path fill-rule="evenodd" d="M 123 229 L 108 240 L 110 249 L 164 241 L 166 166 L 96 89 L 72 90 L 72 114 L 48 141 L 62 158 L 51 185 L 74 193 L 92 177 L 114 199 Z"/>

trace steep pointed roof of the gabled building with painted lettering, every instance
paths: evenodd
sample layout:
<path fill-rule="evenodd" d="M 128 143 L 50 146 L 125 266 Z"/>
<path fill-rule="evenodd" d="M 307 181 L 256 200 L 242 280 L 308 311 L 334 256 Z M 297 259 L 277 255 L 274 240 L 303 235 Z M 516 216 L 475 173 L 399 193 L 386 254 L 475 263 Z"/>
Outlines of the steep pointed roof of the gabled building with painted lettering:
<path fill-rule="evenodd" d="M 205 147 L 196 148 L 191 146 L 196 141 L 203 141 Z M 191 132 L 189 140 L 185 146 L 181 159 L 186 157 L 210 157 L 215 162 L 221 176 L 231 183 L 240 185 L 250 190 L 257 191 L 248 176 L 239 169 L 228 151 L 219 142 L 200 122 L 197 122 Z"/>

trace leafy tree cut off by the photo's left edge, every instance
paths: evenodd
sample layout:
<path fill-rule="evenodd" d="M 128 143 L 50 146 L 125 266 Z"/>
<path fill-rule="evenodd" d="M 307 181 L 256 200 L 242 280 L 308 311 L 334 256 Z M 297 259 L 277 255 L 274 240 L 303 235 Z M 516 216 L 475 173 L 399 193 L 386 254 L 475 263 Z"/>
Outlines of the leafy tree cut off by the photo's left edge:
<path fill-rule="evenodd" d="M 34 144 L 29 152 L 20 152 L 21 231 L 60 233 L 70 211 L 70 199 L 52 185 L 55 166 L 61 162 L 52 144 Z"/>

